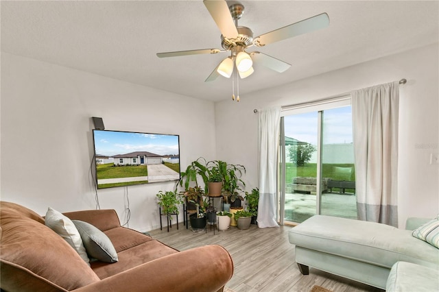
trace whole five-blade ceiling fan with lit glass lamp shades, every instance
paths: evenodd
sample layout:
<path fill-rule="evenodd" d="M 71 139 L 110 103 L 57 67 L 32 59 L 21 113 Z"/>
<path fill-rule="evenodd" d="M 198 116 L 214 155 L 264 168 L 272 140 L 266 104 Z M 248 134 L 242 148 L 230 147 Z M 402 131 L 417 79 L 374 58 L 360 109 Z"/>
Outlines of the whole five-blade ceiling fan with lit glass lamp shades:
<path fill-rule="evenodd" d="M 309 19 L 281 27 L 272 32 L 261 34 L 253 37 L 252 29 L 238 25 L 238 19 L 244 13 L 244 5 L 234 3 L 228 6 L 224 0 L 204 0 L 204 5 L 217 24 L 219 31 L 222 33 L 221 45 L 223 49 L 195 49 L 190 51 L 171 51 L 166 53 L 157 53 L 159 58 L 196 55 L 202 53 L 220 53 L 230 52 L 230 56 L 222 60 L 207 77 L 206 82 L 215 80 L 219 75 L 230 78 L 236 64 L 239 77 L 245 78 L 250 76 L 253 70 L 253 62 L 261 64 L 279 73 L 287 70 L 291 64 L 278 60 L 272 56 L 259 51 L 246 52 L 249 47 L 263 47 L 272 42 L 292 38 L 307 32 L 327 27 L 329 25 L 329 16 L 326 13 L 318 14 Z"/>

